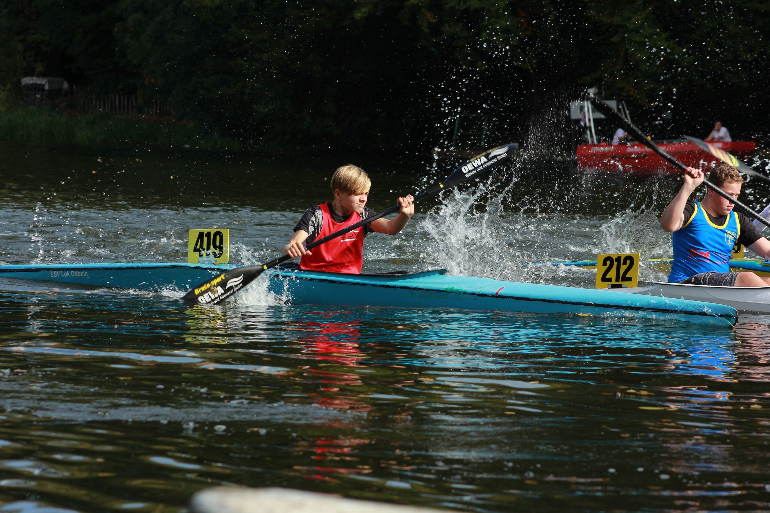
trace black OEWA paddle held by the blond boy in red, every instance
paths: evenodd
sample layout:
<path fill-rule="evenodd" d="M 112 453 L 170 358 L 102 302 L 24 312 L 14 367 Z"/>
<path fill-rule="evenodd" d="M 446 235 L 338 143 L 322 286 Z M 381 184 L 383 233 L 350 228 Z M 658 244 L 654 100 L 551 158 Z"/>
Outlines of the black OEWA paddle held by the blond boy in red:
<path fill-rule="evenodd" d="M 441 191 L 445 191 L 449 188 L 453 188 L 456 185 L 460 185 L 463 182 L 467 182 L 470 180 L 470 178 L 476 178 L 477 176 L 483 175 L 485 172 L 489 171 L 490 168 L 493 168 L 494 166 L 501 164 L 511 158 L 511 153 L 513 153 L 517 148 L 518 145 L 514 142 L 509 145 L 497 146 L 497 148 L 492 148 L 482 153 L 481 155 L 477 155 L 474 158 L 471 158 L 468 162 L 465 162 L 463 165 L 460 165 L 460 167 L 455 169 L 454 172 L 452 172 L 452 174 L 449 175 L 446 180 L 444 180 L 444 183 L 436 185 L 434 188 L 430 188 L 427 191 L 415 195 L 414 202 L 420 202 L 420 200 L 429 198 L 433 195 L 437 195 Z M 329 242 L 335 237 L 339 237 L 340 235 L 346 234 L 347 232 L 350 232 L 351 230 L 354 230 L 360 226 L 373 222 L 375 219 L 393 214 L 393 212 L 398 212 L 400 208 L 401 205 L 393 205 L 390 208 L 386 208 L 382 212 L 363 219 L 354 225 L 343 228 L 342 230 L 320 238 L 317 241 L 310 242 L 310 244 L 306 245 L 306 249 L 315 248 L 318 245 L 322 245 L 324 242 Z M 292 258 L 290 255 L 283 255 L 282 257 L 274 258 L 273 260 L 263 265 L 249 265 L 246 267 L 230 269 L 229 271 L 223 272 L 216 278 L 211 278 L 208 281 L 204 281 L 196 288 L 193 288 L 191 291 L 187 292 L 187 294 L 182 299 L 185 301 L 195 301 L 201 305 L 207 305 L 209 303 L 216 305 L 224 301 L 226 298 L 229 298 L 240 289 L 246 287 L 246 285 L 249 285 L 249 283 L 254 281 L 254 279 L 261 275 L 264 271 L 267 271 L 269 268 L 275 267 L 276 265 L 279 265 L 281 262 L 289 260 L 290 258 Z"/>

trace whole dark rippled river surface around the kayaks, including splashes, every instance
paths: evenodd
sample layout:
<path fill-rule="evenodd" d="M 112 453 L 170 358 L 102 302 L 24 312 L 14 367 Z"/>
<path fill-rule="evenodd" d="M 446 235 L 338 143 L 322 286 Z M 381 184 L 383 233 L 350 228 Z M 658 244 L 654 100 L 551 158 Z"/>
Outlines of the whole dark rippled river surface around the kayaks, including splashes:
<path fill-rule="evenodd" d="M 4 152 L 13 264 L 184 261 L 186 231 L 215 225 L 231 261 L 267 260 L 340 163 Z M 365 163 L 370 203 L 453 164 Z M 368 238 L 364 265 L 591 286 L 522 264 L 665 255 L 676 186 L 524 162 Z M 768 316 L 731 331 L 180 293 L 0 282 L 0 511 L 182 511 L 221 484 L 464 511 L 770 508 Z"/>

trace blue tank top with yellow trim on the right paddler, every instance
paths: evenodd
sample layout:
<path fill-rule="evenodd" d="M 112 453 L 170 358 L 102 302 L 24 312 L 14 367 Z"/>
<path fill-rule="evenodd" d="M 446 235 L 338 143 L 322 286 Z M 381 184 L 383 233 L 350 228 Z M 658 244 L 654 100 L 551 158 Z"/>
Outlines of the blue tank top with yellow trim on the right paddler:
<path fill-rule="evenodd" d="M 674 263 L 668 281 L 676 283 L 701 272 L 730 271 L 730 252 L 741 235 L 738 212 L 730 212 L 724 225 L 715 225 L 701 206 L 674 232 Z"/>

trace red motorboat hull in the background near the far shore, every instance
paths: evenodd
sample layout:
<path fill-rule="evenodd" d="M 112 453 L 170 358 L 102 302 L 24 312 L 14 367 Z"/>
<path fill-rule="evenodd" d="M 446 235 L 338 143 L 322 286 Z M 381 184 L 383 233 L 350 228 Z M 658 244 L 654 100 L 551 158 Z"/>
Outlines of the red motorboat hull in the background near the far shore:
<path fill-rule="evenodd" d="M 685 140 L 656 141 L 655 144 L 682 164 L 694 168 L 711 168 L 712 165 L 719 162 L 715 156 L 698 148 L 693 142 Z M 751 155 L 757 147 L 753 141 L 712 142 L 711 145 L 740 159 Z M 680 172 L 650 148 L 638 142 L 619 145 L 612 145 L 608 142 L 601 142 L 597 145 L 578 145 L 577 168 L 631 173 Z"/>

